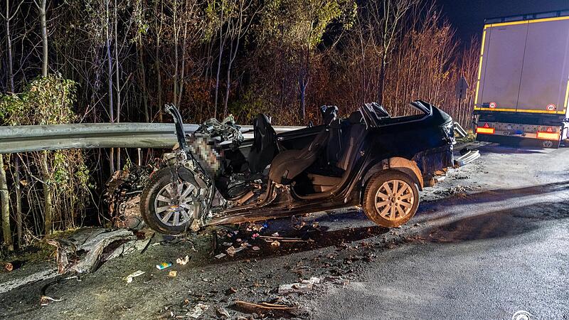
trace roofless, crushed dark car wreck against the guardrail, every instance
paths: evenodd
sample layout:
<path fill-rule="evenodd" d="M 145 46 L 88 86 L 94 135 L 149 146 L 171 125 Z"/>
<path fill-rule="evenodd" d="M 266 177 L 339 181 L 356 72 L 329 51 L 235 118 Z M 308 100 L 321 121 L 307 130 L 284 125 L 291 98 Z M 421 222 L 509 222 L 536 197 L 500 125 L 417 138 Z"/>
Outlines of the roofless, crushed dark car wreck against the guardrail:
<path fill-rule="evenodd" d="M 415 101 L 392 117 L 375 103 L 340 119 L 321 107 L 322 124 L 276 134 L 260 114 L 253 139 L 232 118 L 186 134 L 176 107 L 178 144 L 140 196 L 144 221 L 160 233 L 361 206 L 387 228 L 415 215 L 419 191 L 453 164 L 452 118 Z"/>

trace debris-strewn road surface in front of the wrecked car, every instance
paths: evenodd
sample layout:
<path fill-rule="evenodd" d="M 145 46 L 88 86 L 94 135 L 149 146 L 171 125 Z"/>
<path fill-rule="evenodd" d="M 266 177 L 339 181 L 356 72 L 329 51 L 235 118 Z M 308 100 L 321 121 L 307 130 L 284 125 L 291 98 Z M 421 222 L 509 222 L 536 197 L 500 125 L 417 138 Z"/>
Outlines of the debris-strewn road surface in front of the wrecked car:
<path fill-rule="evenodd" d="M 0 293 L 0 317 L 192 319 L 203 311 L 198 319 L 217 319 L 226 311 L 231 319 L 511 319 L 523 310 L 531 319 L 568 319 L 569 149 L 479 149 L 479 160 L 422 192 L 402 228 L 380 228 L 354 208 L 268 221 L 260 232 L 224 230 L 218 250 L 211 233 L 155 235 L 144 253 L 79 279 Z M 277 246 L 255 233 L 304 241 L 277 239 Z M 233 257 L 215 257 L 243 242 L 250 246 Z M 186 265 L 176 263 L 186 255 Z M 161 262 L 172 265 L 156 269 Z M 0 287 L 56 267 L 24 264 L 0 273 Z M 127 283 L 137 270 L 145 273 Z M 312 277 L 320 280 L 312 290 L 278 292 Z M 61 301 L 41 306 L 42 291 Z"/>

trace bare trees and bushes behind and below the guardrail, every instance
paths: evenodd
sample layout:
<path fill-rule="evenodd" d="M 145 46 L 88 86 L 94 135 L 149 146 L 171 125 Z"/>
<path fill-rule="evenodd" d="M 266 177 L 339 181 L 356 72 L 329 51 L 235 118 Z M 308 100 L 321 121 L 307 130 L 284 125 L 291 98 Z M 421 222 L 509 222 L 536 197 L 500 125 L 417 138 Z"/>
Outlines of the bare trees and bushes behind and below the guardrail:
<path fill-rule="evenodd" d="M 479 41 L 459 43 L 422 0 L 5 0 L 0 124 L 319 122 L 363 102 L 392 114 L 416 99 L 468 128 Z M 1 150 L 0 150 L 1 151 Z M 108 225 L 102 188 L 130 150 L 0 156 L 2 250 L 54 230 Z M 156 154 L 144 151 L 144 159 Z"/>

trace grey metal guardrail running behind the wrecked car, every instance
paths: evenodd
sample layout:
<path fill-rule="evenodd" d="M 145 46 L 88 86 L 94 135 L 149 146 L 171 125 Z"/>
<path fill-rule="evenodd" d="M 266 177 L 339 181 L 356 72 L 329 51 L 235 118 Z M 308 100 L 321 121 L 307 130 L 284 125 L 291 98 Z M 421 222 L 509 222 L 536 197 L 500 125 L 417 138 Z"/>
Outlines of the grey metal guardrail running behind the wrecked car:
<path fill-rule="evenodd" d="M 252 126 L 240 126 L 242 132 Z M 275 132 L 304 127 L 275 126 Z M 184 124 L 186 132 L 198 124 Z M 252 133 L 243 134 L 245 139 Z M 0 154 L 26 151 L 97 148 L 171 148 L 176 144 L 174 124 L 170 123 L 82 123 L 0 127 Z"/>

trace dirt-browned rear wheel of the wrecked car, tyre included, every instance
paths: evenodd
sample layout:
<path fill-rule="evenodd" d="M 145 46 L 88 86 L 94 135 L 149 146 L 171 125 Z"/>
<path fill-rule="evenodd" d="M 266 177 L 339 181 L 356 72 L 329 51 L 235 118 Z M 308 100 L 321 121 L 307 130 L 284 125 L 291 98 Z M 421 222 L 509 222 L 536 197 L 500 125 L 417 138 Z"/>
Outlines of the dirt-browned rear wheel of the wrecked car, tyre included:
<path fill-rule="evenodd" d="M 397 188 L 399 197 L 395 198 L 388 192 L 393 188 Z M 381 171 L 367 183 L 363 211 L 382 227 L 395 228 L 405 224 L 413 218 L 418 207 L 419 189 L 408 174 L 395 170 Z"/>

